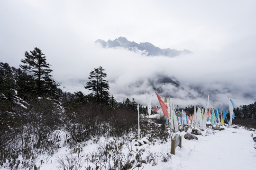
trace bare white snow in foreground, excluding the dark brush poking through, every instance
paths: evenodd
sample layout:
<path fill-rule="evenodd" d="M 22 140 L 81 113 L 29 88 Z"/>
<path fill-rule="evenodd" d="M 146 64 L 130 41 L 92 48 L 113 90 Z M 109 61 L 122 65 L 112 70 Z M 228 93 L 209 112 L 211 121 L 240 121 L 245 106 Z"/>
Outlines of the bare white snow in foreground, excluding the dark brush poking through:
<path fill-rule="evenodd" d="M 140 151 L 144 149 L 142 159 L 146 160 L 149 153 L 156 155 L 156 165 L 151 163 L 142 163 L 141 167 L 136 167 L 135 170 L 256 170 L 256 142 L 253 141 L 253 136 L 256 136 L 255 131 L 249 131 L 244 127 L 225 127 L 225 130 L 218 131 L 207 129 L 202 132 L 202 135 L 197 136 L 198 140 L 187 140 L 183 136 L 186 132 L 177 132 L 182 136 L 182 148 L 176 147 L 176 155 L 171 155 L 169 161 L 161 161 L 163 154 L 170 153 L 171 141 L 161 144 L 156 141 L 155 144 L 143 137 L 140 143 L 146 141 L 148 144 L 136 146 L 138 144 L 135 140 L 123 146 L 122 152 L 127 155 L 129 151 Z M 188 130 L 191 132 L 191 129 Z M 104 146 L 108 142 L 115 142 L 118 144 L 122 140 L 119 138 L 104 138 L 101 137 L 98 143 L 88 141 L 81 144 L 82 154 L 91 154 L 96 152 L 99 146 Z M 122 141 L 123 142 L 123 141 Z M 72 149 L 63 146 L 53 156 L 48 156 L 45 162 L 41 165 L 40 170 L 58 170 L 58 160 L 69 153 Z M 74 154 L 76 156 L 77 153 Z M 44 156 L 46 158 L 47 155 Z M 40 165 L 38 159 L 37 166 Z M 137 162 L 133 165 L 133 167 Z M 86 165 L 84 162 L 83 167 Z M 94 164 L 90 164 L 93 169 L 96 168 Z M 0 169 L 7 170 L 7 169 Z"/>

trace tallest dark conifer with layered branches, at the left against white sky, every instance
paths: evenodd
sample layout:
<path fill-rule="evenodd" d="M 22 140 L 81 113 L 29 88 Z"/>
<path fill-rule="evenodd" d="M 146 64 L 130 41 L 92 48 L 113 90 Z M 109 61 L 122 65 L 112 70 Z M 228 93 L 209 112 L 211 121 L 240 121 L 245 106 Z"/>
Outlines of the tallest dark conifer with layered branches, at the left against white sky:
<path fill-rule="evenodd" d="M 35 47 L 33 51 L 30 51 L 30 53 L 31 54 L 26 51 L 25 59 L 21 59 L 21 62 L 25 65 L 19 65 L 20 68 L 29 72 L 32 76 L 32 79 L 24 80 L 30 82 L 24 83 L 24 85 L 27 85 L 30 92 L 38 96 L 56 96 L 57 83 L 51 78 L 52 75 L 50 75 L 50 73 L 53 70 L 49 67 L 51 65 L 46 62 L 45 54 L 37 47 Z"/>

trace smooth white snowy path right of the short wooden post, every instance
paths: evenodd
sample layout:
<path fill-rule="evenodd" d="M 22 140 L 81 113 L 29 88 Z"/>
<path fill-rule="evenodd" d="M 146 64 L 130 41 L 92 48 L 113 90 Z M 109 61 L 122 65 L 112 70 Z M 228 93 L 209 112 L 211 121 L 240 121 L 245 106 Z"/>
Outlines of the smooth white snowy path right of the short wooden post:
<path fill-rule="evenodd" d="M 198 141 L 183 138 L 183 148 L 173 156 L 177 170 L 256 170 L 255 132 L 227 128 L 214 135 L 198 136 Z"/>

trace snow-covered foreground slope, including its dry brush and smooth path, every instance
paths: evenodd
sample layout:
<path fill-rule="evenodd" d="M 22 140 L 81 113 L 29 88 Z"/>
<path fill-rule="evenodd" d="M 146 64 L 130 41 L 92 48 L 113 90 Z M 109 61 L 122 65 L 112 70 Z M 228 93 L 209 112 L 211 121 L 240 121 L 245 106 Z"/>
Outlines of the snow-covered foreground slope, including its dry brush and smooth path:
<path fill-rule="evenodd" d="M 142 120 L 142 129 L 145 121 L 148 123 L 151 119 Z M 37 154 L 30 161 L 40 170 L 254 170 L 256 167 L 254 129 L 223 126 L 225 129 L 219 131 L 209 127 L 197 136 L 198 140 L 187 140 L 184 135 L 192 132 L 189 128 L 187 132 L 176 133 L 182 136 L 182 147 L 177 146 L 173 155 L 170 151 L 174 133 L 169 131 L 171 136 L 164 140 L 160 136 L 151 137 L 156 130 L 154 128 L 160 130 L 161 126 L 153 122 L 149 125 L 151 128 L 147 130 L 150 133 L 142 135 L 140 140 L 133 132 L 118 138 L 98 136 L 71 144 L 67 141 L 69 135 L 66 132 L 56 131 L 59 149 L 51 154 Z M 9 170 L 3 167 L 0 170 Z"/>

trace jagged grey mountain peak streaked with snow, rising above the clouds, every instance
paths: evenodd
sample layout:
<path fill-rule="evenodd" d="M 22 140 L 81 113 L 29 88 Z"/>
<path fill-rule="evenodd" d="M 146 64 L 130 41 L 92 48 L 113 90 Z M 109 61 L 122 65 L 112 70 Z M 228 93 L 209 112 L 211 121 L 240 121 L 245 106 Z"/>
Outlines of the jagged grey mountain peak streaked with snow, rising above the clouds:
<path fill-rule="evenodd" d="M 95 41 L 96 43 L 100 43 L 103 48 L 115 48 L 115 47 L 123 47 L 126 50 L 133 51 L 135 53 L 139 53 L 141 55 L 146 56 L 167 56 L 167 57 L 176 57 L 179 55 L 184 54 L 191 54 L 192 51 L 189 50 L 183 50 L 178 51 L 175 49 L 161 49 L 159 47 L 155 47 L 150 42 L 140 42 L 139 44 L 137 42 L 130 42 L 125 37 L 119 37 L 115 40 L 111 41 L 108 40 L 105 42 L 104 40 L 98 39 Z"/>

